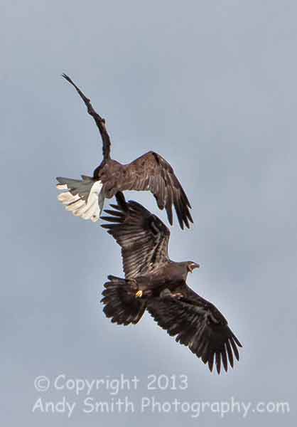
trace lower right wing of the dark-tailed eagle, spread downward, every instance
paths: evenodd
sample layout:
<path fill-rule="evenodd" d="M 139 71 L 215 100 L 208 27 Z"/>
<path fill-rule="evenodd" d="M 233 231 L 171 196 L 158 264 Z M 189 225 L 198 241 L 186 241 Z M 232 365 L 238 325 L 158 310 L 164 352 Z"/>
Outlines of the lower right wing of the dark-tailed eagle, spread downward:
<path fill-rule="evenodd" d="M 148 300 L 147 310 L 159 326 L 175 336 L 175 341 L 189 347 L 191 352 L 208 363 L 210 371 L 215 361 L 217 373 L 221 365 L 227 372 L 234 356 L 239 360 L 239 340 L 227 325 L 227 320 L 211 302 L 204 300 L 193 290 L 183 285 L 177 289 L 183 297 L 174 297 L 164 292 L 163 297 Z"/>

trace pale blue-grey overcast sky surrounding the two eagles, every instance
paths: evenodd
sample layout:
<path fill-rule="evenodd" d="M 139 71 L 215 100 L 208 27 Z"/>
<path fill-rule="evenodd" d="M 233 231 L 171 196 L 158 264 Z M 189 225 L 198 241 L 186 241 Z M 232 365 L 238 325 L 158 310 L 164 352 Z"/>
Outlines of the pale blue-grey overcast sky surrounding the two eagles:
<path fill-rule="evenodd" d="M 21 1 L 2 4 L 1 418 L 11 426 L 296 425 L 295 1 Z M 112 155 L 150 149 L 170 162 L 195 226 L 171 228 L 173 260 L 244 344 L 210 374 L 146 315 L 104 317 L 99 293 L 122 275 L 119 246 L 58 203 L 55 176 L 92 174 L 102 144 L 68 73 L 107 118 Z M 150 194 L 131 193 L 164 221 Z M 289 415 L 32 413 L 45 375 L 138 376 L 129 398 L 288 401 Z M 148 374 L 185 374 L 185 391 L 146 390 Z M 124 391 L 120 396 L 127 393 Z M 107 391 L 93 394 L 108 400 Z"/>

